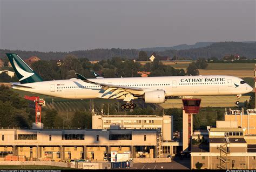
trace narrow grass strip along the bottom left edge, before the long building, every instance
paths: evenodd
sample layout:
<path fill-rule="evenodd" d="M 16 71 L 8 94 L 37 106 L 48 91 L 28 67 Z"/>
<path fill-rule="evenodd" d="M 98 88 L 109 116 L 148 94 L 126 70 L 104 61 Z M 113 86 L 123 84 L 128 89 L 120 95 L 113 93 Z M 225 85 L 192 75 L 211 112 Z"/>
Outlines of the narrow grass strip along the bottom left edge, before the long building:
<path fill-rule="evenodd" d="M 26 169 L 49 169 L 49 170 L 53 170 L 53 169 L 73 169 L 73 168 L 65 168 L 65 167 L 57 167 L 57 166 L 32 166 L 32 165 L 25 165 L 25 166 L 0 166 L 0 169 L 19 169 L 19 170 L 26 170 Z"/>

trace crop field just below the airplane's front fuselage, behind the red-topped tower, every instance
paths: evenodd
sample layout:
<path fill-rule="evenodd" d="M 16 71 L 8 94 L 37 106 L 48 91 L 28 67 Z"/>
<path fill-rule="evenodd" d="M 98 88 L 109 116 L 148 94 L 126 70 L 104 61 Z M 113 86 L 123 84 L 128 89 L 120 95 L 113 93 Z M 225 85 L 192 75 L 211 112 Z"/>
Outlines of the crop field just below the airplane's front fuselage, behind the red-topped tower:
<path fill-rule="evenodd" d="M 200 107 L 238 107 L 235 105 L 237 96 L 193 96 L 193 98 L 201 98 Z M 249 101 L 250 96 L 240 97 L 240 104 Z M 165 103 L 159 104 L 164 109 L 180 108 L 183 106 L 181 99 L 167 99 Z"/>

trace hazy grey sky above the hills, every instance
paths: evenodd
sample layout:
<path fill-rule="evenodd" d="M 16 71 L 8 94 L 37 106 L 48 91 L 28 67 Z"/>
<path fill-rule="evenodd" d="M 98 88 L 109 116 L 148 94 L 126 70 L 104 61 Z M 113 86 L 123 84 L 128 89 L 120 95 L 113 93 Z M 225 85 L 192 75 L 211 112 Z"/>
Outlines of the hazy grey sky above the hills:
<path fill-rule="evenodd" d="M 0 48 L 67 52 L 255 41 L 255 9 L 255 0 L 0 0 Z"/>

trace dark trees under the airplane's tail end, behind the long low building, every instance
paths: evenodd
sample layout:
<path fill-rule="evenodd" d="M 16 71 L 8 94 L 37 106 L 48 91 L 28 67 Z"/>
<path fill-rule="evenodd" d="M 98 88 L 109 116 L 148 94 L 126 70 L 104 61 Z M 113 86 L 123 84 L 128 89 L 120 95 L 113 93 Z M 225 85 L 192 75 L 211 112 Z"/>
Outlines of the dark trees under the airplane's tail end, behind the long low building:
<path fill-rule="evenodd" d="M 55 109 L 42 108 L 45 127 L 62 127 L 65 120 Z M 35 103 L 20 97 L 16 92 L 0 85 L 0 127 L 31 128 L 35 122 Z M 77 111 L 69 121 L 70 126 L 91 128 L 91 113 Z"/>

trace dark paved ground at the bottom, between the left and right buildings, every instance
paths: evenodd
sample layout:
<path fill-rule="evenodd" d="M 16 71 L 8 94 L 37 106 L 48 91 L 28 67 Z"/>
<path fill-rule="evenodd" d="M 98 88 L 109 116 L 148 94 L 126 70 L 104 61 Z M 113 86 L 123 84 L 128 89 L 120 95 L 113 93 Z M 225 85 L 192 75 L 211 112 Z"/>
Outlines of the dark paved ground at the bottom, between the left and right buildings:
<path fill-rule="evenodd" d="M 190 169 L 190 159 L 174 159 L 167 163 L 134 163 L 131 169 Z"/>

